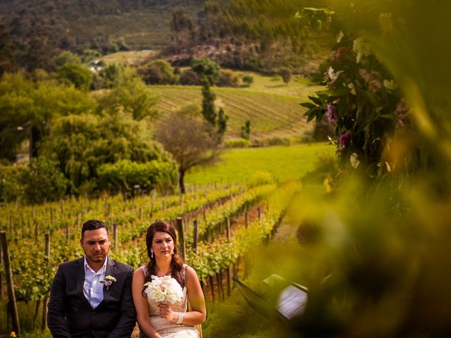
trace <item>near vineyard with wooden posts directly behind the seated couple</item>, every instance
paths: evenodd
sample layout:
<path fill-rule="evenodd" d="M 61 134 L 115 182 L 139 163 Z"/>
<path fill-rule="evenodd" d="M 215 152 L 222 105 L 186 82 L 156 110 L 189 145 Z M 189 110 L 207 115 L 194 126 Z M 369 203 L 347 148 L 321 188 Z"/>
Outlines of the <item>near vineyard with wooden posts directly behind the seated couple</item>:
<path fill-rule="evenodd" d="M 0 209 L 1 230 L 8 239 L 16 301 L 36 303 L 36 327 L 58 263 L 82 256 L 81 223 L 92 218 L 109 225 L 111 257 L 134 268 L 148 259 L 145 232 L 149 224 L 170 220 L 179 230 L 180 251 L 214 301 L 215 294 L 224 292 L 223 272 L 229 292 L 231 275 L 237 273 L 240 262 L 247 274 L 247 251 L 271 238 L 297 189 L 297 183 L 192 184 L 185 195 L 125 194 L 69 198 L 41 206 L 6 205 Z M 3 264 L 1 269 L 5 275 Z M 5 306 L 1 313 L 0 327 L 4 327 Z"/>

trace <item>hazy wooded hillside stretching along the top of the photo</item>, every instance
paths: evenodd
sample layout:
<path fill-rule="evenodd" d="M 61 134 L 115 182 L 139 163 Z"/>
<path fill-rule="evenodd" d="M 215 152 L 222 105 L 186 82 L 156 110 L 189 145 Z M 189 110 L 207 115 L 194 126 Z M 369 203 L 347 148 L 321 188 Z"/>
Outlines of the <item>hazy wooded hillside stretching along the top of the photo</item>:
<path fill-rule="evenodd" d="M 311 75 L 333 38 L 295 17 L 303 6 L 306 0 L 0 0 L 0 68 L 2 54 L 33 70 L 49 69 L 62 50 L 158 49 L 175 65 L 209 56 L 228 68 Z"/>

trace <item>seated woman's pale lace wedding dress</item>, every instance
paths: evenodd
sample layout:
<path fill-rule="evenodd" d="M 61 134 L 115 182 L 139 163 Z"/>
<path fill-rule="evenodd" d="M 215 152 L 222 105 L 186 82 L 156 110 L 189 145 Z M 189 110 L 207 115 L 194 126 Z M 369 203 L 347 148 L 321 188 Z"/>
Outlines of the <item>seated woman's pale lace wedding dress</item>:
<path fill-rule="evenodd" d="M 183 265 L 182 275 L 185 278 L 185 268 Z M 143 267 L 144 275 L 147 277 L 148 271 L 147 266 Z M 177 303 L 171 304 L 171 308 L 175 312 L 186 312 L 187 309 L 187 289 L 183 287 L 183 298 Z M 160 318 L 159 307 L 156 301 L 152 299 L 147 299 L 147 306 L 149 308 L 149 320 L 150 323 L 155 327 L 155 330 L 163 338 L 199 338 L 199 334 L 194 326 L 176 324 L 169 322 L 166 319 Z M 145 338 L 144 334 L 140 333 L 140 338 Z"/>

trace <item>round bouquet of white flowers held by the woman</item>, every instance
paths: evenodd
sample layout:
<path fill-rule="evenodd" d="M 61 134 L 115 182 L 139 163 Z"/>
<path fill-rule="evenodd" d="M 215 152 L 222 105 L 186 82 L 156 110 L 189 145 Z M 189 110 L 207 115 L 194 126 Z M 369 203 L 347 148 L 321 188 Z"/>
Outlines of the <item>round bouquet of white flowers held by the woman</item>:
<path fill-rule="evenodd" d="M 144 292 L 149 299 L 159 303 L 175 303 L 183 298 L 183 289 L 171 276 L 157 277 L 152 275 L 152 282 L 144 284 Z"/>

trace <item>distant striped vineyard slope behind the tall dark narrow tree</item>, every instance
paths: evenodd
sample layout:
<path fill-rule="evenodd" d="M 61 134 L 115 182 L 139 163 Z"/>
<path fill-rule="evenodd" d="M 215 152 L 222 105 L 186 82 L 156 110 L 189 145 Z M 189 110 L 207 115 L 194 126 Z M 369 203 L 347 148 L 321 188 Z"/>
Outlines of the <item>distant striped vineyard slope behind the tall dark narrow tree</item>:
<path fill-rule="evenodd" d="M 152 86 L 152 89 L 160 96 L 156 108 L 161 111 L 202 104 L 199 87 Z M 252 137 L 257 139 L 299 136 L 311 130 L 299 106 L 306 98 L 233 88 L 214 88 L 213 92 L 216 106 L 222 107 L 229 116 L 226 137 L 240 137 L 246 120 L 251 121 Z"/>

